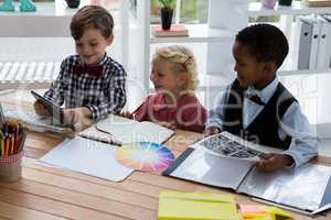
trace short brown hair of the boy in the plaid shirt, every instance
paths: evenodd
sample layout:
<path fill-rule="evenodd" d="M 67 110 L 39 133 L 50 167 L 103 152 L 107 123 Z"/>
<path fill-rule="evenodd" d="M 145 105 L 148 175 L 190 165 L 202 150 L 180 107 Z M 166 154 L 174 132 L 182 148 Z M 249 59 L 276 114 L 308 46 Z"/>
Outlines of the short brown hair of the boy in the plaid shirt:
<path fill-rule="evenodd" d="M 102 32 L 104 37 L 109 37 L 113 35 L 114 19 L 103 7 L 85 6 L 73 16 L 71 34 L 74 40 L 78 40 L 88 28 L 97 29 Z"/>

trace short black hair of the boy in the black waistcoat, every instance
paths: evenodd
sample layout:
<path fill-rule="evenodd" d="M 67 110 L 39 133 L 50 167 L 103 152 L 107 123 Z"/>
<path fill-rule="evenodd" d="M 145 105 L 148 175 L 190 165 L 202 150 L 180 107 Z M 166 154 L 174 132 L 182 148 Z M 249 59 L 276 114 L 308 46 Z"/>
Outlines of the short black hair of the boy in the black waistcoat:
<path fill-rule="evenodd" d="M 288 54 L 288 41 L 284 33 L 271 24 L 247 26 L 235 38 L 257 61 L 275 62 L 279 68 Z"/>

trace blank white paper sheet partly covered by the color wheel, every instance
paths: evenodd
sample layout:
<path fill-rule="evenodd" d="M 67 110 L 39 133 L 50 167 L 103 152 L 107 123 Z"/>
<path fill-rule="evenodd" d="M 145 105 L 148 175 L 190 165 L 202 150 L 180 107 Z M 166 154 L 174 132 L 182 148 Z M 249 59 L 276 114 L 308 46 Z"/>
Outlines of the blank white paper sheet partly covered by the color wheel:
<path fill-rule="evenodd" d="M 134 169 L 119 164 L 114 145 L 75 138 L 61 143 L 40 158 L 40 162 L 81 172 L 111 182 L 124 180 Z"/>

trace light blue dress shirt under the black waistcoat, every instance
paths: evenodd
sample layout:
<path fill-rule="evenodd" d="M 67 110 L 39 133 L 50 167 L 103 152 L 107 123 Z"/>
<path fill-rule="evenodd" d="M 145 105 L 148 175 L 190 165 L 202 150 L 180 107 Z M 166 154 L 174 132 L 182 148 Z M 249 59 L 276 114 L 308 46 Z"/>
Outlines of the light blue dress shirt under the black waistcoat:
<path fill-rule="evenodd" d="M 246 95 L 257 95 L 261 99 L 261 101 L 267 103 L 276 91 L 278 82 L 278 77 L 275 77 L 275 79 L 261 90 L 248 87 L 248 89 L 246 90 Z M 226 88 L 226 91 L 217 102 L 216 108 L 210 111 L 206 128 L 216 127 L 222 130 L 222 121 L 224 120 L 224 106 L 228 100 L 228 91 L 231 89 L 231 86 L 232 85 Z M 243 127 L 244 129 L 246 129 L 261 112 L 264 106 L 255 103 L 254 101 L 246 98 L 246 96 L 244 97 Z M 302 114 L 300 106 L 297 101 L 292 102 L 291 106 L 289 106 L 279 124 L 279 139 L 285 140 L 286 135 L 291 136 L 292 142 L 290 147 L 287 151 L 284 151 L 282 154 L 287 154 L 293 158 L 293 167 L 300 166 L 310 158 L 317 156 L 317 135 L 312 131 L 308 119 Z"/>

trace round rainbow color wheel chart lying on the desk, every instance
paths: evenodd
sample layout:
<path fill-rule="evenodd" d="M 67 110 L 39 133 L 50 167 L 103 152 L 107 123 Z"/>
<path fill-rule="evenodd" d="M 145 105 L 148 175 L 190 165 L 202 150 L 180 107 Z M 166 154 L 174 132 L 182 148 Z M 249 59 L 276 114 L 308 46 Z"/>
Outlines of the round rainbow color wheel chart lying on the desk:
<path fill-rule="evenodd" d="M 116 158 L 122 165 L 137 170 L 158 172 L 170 166 L 174 155 L 163 145 L 137 142 L 117 147 Z"/>

